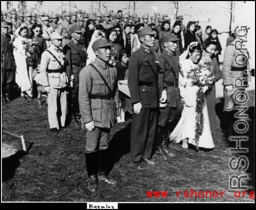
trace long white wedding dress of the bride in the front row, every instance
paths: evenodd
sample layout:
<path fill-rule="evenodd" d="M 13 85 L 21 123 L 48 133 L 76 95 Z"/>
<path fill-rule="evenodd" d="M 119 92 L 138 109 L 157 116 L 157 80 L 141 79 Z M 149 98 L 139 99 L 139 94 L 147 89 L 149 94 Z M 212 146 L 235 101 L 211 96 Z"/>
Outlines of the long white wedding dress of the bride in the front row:
<path fill-rule="evenodd" d="M 184 72 L 184 78 L 187 77 L 187 73 L 194 67 L 196 67 L 192 60 L 185 59 L 182 63 L 182 70 Z M 181 76 L 180 76 L 181 78 Z M 184 105 L 181 118 L 178 122 L 176 128 L 170 135 L 170 141 L 179 143 L 182 139 L 189 138 L 189 143 L 196 146 L 195 143 L 195 129 L 196 129 L 196 92 L 199 90 L 199 87 L 193 86 L 191 80 L 187 79 L 187 83 L 184 87 L 180 87 L 181 96 L 188 96 L 189 100 L 192 102 L 193 106 L 188 107 Z M 214 148 L 212 132 L 210 128 L 210 121 L 208 117 L 207 105 L 205 104 L 203 108 L 204 115 L 204 128 L 202 135 L 199 139 L 199 147 L 204 147 L 206 149 Z"/>

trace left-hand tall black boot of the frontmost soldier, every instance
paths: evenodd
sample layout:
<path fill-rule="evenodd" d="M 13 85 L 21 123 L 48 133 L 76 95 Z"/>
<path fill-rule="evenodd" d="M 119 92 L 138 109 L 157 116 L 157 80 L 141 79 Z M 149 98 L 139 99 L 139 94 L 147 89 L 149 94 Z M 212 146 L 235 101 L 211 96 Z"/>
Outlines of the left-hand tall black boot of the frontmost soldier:
<path fill-rule="evenodd" d="M 97 178 L 97 159 L 98 153 L 85 153 L 86 168 L 89 178 L 88 190 L 95 192 L 98 189 Z"/>

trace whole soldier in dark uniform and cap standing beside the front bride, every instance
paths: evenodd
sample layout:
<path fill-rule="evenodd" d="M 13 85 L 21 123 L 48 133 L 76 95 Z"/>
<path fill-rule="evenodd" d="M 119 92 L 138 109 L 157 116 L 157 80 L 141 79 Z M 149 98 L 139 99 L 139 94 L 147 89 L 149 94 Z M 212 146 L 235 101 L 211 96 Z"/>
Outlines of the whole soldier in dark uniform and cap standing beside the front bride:
<path fill-rule="evenodd" d="M 159 93 L 167 91 L 166 107 L 160 108 L 158 128 L 157 128 L 157 150 L 156 158 L 166 155 L 174 157 L 173 153 L 168 151 L 168 131 L 170 123 L 173 121 L 176 110 L 180 105 L 180 90 L 179 90 L 179 56 L 176 55 L 177 41 L 172 33 L 166 33 L 161 38 L 164 51 L 159 56 L 158 61 L 162 67 L 158 75 Z M 161 100 L 160 100 L 161 101 Z"/>

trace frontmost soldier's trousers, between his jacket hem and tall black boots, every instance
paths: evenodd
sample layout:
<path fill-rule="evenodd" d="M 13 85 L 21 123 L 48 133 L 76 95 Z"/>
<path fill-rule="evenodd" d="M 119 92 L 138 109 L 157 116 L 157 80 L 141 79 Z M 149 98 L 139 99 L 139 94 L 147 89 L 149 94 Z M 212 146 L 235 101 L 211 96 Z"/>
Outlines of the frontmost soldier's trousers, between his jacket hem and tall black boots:
<path fill-rule="evenodd" d="M 110 128 L 95 127 L 93 131 L 87 130 L 86 153 L 95 153 L 98 150 L 107 150 L 109 147 Z"/>

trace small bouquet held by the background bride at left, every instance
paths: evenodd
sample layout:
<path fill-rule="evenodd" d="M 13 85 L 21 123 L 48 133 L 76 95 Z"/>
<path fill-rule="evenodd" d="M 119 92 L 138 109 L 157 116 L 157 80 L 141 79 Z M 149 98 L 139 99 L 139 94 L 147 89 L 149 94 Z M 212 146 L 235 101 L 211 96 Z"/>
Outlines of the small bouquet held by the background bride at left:
<path fill-rule="evenodd" d="M 35 68 L 40 55 L 38 42 L 24 43 L 24 45 L 27 56 L 27 65 Z"/>

